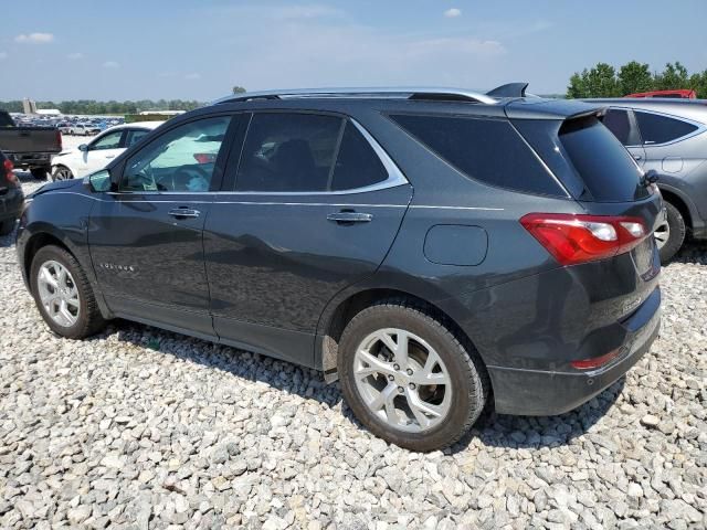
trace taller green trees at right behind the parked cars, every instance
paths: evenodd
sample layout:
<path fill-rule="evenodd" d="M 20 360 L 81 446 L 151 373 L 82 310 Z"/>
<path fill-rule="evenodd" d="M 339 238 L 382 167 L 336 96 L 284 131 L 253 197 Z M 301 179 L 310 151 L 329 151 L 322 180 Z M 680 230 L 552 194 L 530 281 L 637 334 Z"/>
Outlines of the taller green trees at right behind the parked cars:
<path fill-rule="evenodd" d="M 570 77 L 567 97 L 621 97 L 637 92 L 688 88 L 707 98 L 707 70 L 690 74 L 679 61 L 667 63 L 662 72 L 652 72 L 645 63 L 631 61 L 619 70 L 597 63 Z"/>

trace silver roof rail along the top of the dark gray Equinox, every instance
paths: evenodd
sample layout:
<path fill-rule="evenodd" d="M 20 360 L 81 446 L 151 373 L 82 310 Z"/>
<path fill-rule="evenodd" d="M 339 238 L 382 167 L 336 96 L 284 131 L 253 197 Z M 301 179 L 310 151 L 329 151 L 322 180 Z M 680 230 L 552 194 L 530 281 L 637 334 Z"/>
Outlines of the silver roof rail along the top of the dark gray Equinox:
<path fill-rule="evenodd" d="M 244 92 L 222 97 L 213 102 L 221 103 L 251 102 L 254 99 L 285 99 L 288 97 L 404 97 L 407 99 L 433 99 L 483 103 L 498 103 L 489 95 L 464 88 L 430 87 L 384 87 L 384 88 L 295 88 L 283 91 Z"/>

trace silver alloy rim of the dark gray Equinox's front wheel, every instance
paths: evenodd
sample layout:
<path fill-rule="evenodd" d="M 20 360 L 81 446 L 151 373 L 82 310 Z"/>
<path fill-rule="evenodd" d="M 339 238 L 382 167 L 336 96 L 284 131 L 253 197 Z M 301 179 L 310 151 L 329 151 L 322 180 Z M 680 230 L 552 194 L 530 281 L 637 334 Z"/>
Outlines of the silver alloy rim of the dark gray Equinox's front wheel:
<path fill-rule="evenodd" d="M 40 300 L 46 315 L 59 326 L 74 326 L 81 314 L 81 299 L 68 269 L 55 261 L 44 262 L 36 279 Z"/>

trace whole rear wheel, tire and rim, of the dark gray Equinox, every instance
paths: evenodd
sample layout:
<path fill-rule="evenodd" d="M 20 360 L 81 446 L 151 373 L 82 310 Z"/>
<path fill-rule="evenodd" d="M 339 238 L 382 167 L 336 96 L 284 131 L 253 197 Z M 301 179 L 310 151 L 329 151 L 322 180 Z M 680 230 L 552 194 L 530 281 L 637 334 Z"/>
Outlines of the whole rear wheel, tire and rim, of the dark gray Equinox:
<path fill-rule="evenodd" d="M 382 303 L 354 317 L 341 336 L 338 371 L 346 401 L 366 427 L 421 452 L 458 441 L 490 389 L 473 347 L 407 303 Z"/>

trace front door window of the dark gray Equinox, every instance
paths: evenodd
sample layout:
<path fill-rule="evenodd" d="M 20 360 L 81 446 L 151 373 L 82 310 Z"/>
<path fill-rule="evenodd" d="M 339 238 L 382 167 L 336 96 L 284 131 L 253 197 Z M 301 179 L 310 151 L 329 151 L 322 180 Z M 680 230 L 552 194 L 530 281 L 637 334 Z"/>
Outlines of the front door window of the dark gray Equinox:
<path fill-rule="evenodd" d="M 128 159 L 120 191 L 208 191 L 230 121 L 199 119 L 159 136 Z"/>

